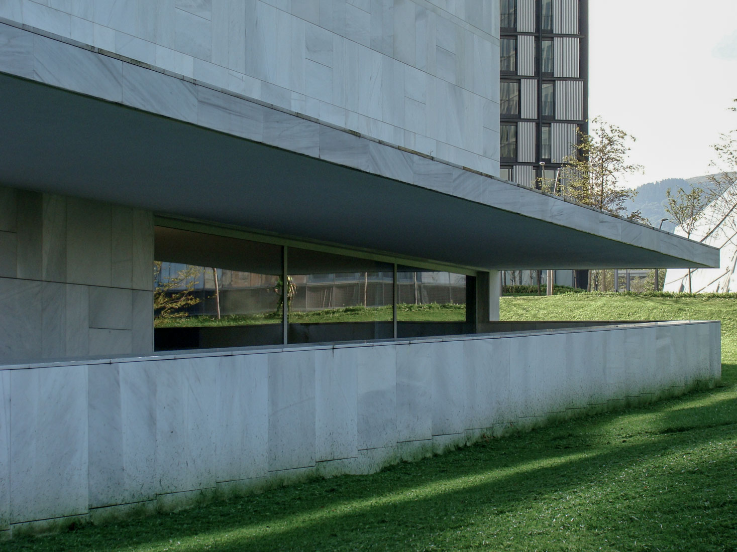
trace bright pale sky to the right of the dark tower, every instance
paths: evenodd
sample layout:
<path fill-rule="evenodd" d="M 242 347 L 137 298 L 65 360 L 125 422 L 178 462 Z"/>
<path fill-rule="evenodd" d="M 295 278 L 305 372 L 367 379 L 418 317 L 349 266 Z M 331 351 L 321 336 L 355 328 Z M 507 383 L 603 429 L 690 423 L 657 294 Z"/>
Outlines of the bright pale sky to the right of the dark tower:
<path fill-rule="evenodd" d="M 590 0 L 589 116 L 635 136 L 635 187 L 716 172 L 737 129 L 737 0 Z"/>

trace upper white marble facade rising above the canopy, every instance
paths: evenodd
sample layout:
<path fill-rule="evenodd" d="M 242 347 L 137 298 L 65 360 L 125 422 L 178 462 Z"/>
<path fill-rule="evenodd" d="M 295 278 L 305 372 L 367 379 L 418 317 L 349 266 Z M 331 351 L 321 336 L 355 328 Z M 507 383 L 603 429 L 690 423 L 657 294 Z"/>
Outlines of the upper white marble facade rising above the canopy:
<path fill-rule="evenodd" d="M 0 21 L 497 174 L 498 11 L 497 0 L 4 0 Z"/>

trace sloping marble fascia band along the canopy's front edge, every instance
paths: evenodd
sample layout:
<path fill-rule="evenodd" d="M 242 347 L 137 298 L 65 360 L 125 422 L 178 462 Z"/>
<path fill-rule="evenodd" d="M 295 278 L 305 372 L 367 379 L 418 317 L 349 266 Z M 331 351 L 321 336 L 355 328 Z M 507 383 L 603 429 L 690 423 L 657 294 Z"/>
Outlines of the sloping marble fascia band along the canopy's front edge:
<path fill-rule="evenodd" d="M 711 266 L 716 250 L 225 88 L 0 23 L 0 71 Z M 494 144 L 498 139 L 495 138 Z M 422 151 L 422 149 L 419 149 Z M 461 166 L 464 165 L 464 166 Z M 496 172 L 496 169 L 488 172 Z M 49 185 L 38 183 L 37 185 Z M 57 193 L 71 191 L 55 190 Z M 660 265 L 662 266 L 662 265 Z"/>

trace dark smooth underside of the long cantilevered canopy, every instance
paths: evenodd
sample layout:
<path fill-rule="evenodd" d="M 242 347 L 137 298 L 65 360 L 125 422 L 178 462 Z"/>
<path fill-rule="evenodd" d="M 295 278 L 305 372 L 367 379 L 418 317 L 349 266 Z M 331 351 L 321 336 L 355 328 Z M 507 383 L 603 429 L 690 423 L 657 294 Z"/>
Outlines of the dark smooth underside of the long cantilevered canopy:
<path fill-rule="evenodd" d="M 516 205 L 554 202 L 566 215 L 461 199 L 5 74 L 0 102 L 3 185 L 471 269 L 719 263 L 710 247 L 493 179 Z M 653 236 L 607 238 L 587 230 L 592 216 Z"/>

